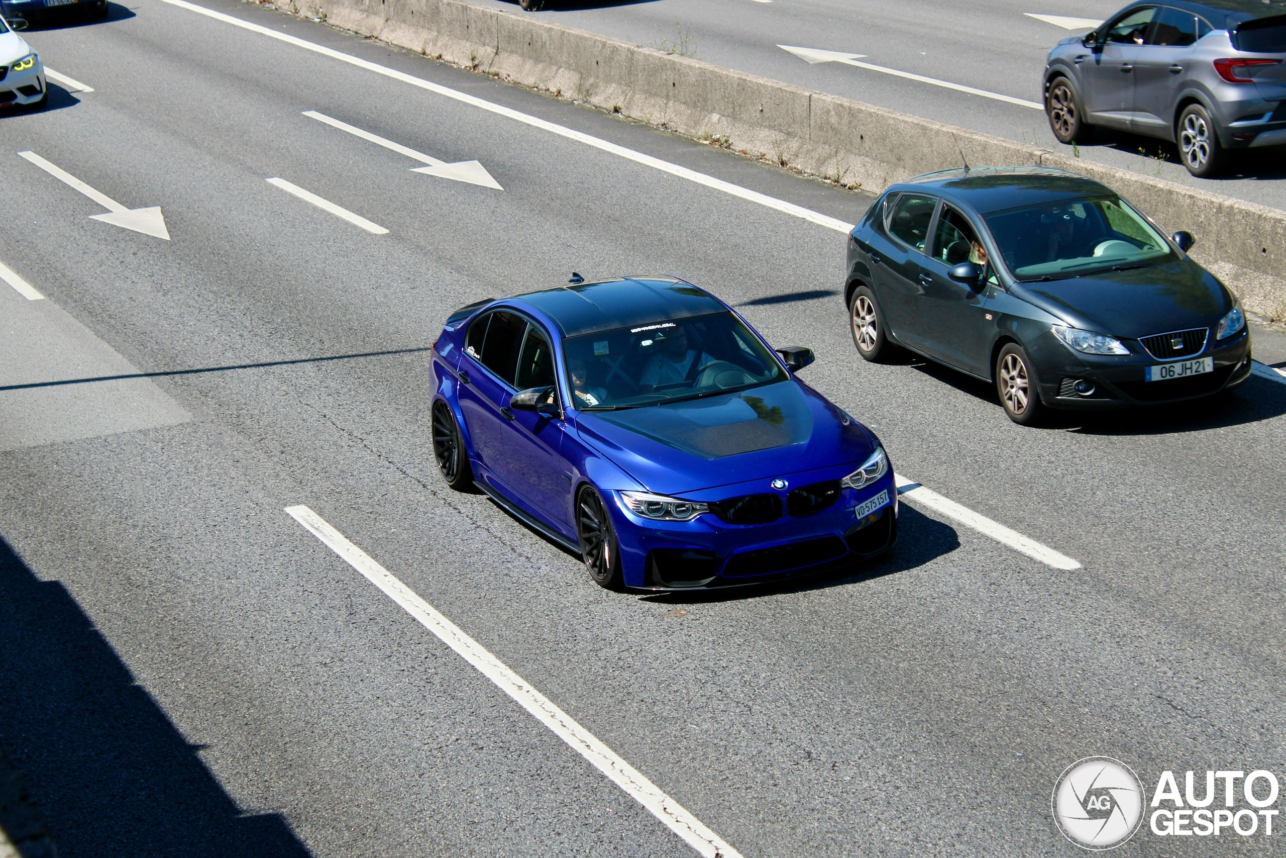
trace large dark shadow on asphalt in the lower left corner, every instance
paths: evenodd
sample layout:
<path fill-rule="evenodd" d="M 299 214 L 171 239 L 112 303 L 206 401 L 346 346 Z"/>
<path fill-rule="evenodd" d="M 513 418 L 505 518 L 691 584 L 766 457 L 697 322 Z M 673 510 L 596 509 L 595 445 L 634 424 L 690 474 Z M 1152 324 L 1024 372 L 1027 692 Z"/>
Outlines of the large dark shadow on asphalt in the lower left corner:
<path fill-rule="evenodd" d="M 63 858 L 307 858 L 246 814 L 67 589 L 0 536 L 0 731 Z"/>

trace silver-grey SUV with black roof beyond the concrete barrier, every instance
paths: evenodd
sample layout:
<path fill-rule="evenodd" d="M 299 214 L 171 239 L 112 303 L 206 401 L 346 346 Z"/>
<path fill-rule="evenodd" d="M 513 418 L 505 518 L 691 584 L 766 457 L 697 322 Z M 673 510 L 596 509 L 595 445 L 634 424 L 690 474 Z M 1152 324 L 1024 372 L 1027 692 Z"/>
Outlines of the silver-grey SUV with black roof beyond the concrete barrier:
<path fill-rule="evenodd" d="M 1132 3 L 1049 51 L 1044 104 L 1062 143 L 1096 126 L 1178 143 L 1213 176 L 1229 149 L 1286 144 L 1286 0 Z"/>

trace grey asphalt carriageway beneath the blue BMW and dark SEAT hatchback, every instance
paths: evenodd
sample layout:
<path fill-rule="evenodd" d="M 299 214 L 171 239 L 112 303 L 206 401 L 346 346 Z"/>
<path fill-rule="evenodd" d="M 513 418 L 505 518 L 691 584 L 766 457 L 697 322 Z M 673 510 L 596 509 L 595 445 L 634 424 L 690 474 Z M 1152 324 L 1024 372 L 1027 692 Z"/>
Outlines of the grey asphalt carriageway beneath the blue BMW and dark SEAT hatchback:
<path fill-rule="evenodd" d="M 0 262 L 44 296 L 0 283 L 0 738 L 62 855 L 696 854 L 296 504 L 747 858 L 1071 855 L 1049 795 L 1079 758 L 1145 783 L 1281 773 L 1286 383 L 1017 427 L 985 385 L 858 359 L 841 233 L 554 131 L 850 223 L 869 198 L 204 3 L 554 126 L 162 0 L 30 33 L 94 90 L 0 117 Z M 477 160 L 503 190 L 412 172 L 305 111 Z M 91 219 L 112 208 L 19 152 L 121 211 L 159 206 L 170 239 Z M 860 574 L 601 590 L 446 490 L 430 439 L 446 314 L 572 270 L 675 274 L 813 346 L 804 377 L 899 472 L 1082 567 L 910 494 L 896 552 Z M 1286 361 L 1281 334 L 1255 336 Z M 1276 843 L 1224 835 L 1145 831 L 1121 854 Z"/>

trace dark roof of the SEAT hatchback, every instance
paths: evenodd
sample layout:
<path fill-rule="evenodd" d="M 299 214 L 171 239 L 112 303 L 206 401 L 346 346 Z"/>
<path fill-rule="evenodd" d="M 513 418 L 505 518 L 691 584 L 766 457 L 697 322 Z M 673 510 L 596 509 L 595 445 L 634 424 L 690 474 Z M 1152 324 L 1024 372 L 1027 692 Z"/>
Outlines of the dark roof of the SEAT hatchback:
<path fill-rule="evenodd" d="M 959 167 L 914 176 L 904 185 L 932 188 L 979 214 L 1114 193 L 1093 179 L 1053 167 Z M 904 185 L 895 188 L 905 189 Z"/>

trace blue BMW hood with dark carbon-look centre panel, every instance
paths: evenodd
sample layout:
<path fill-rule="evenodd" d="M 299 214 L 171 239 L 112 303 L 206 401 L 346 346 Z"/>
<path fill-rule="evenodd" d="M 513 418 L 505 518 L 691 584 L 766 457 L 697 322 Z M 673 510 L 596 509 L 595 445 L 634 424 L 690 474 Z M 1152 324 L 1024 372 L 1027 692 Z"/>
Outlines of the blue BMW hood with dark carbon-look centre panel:
<path fill-rule="evenodd" d="M 577 430 L 649 491 L 683 494 L 835 464 L 874 449 L 862 424 L 799 381 L 620 412 Z"/>

